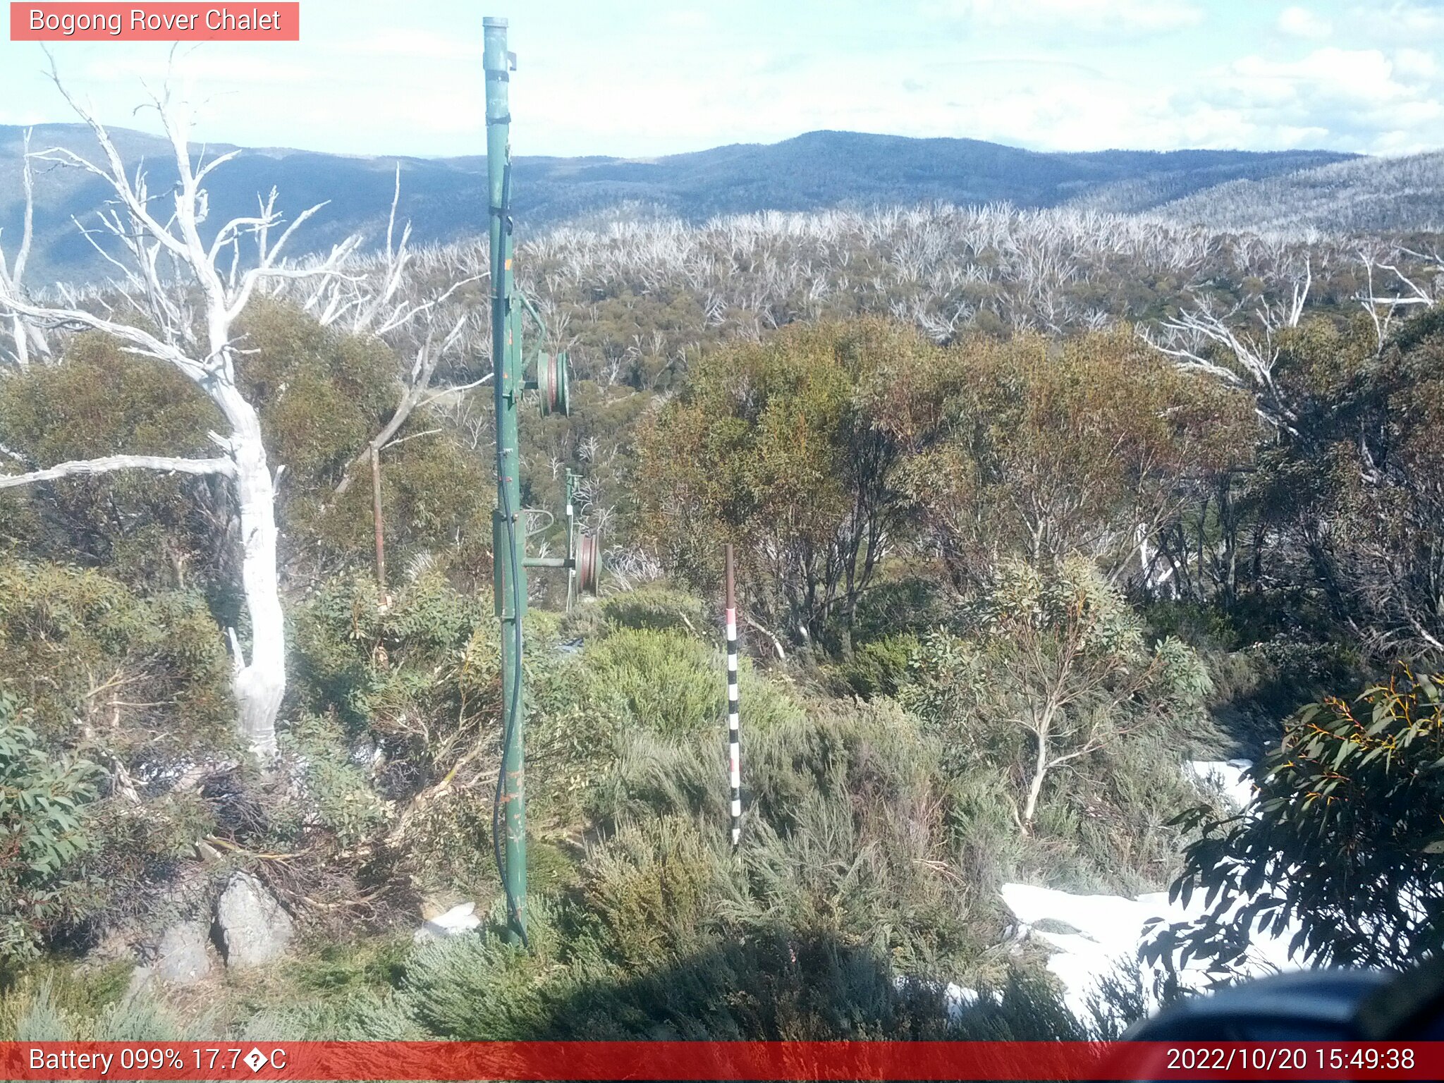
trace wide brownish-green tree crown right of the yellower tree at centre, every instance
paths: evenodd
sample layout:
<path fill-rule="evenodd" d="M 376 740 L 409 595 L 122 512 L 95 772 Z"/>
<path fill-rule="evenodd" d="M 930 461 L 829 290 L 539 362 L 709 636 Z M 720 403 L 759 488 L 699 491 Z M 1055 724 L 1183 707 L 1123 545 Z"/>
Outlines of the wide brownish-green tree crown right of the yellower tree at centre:
<path fill-rule="evenodd" d="M 1252 403 L 1126 329 L 1061 341 L 973 335 L 928 365 L 885 371 L 877 425 L 908 449 L 910 500 L 956 582 L 999 556 L 1097 553 L 1164 521 L 1213 471 L 1252 456 Z"/>

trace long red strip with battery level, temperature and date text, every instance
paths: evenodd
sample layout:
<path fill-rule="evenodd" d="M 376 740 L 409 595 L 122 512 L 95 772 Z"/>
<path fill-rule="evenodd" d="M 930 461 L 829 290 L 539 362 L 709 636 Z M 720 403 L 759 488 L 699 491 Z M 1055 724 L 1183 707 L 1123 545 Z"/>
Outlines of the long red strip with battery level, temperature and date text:
<path fill-rule="evenodd" d="M 1444 1079 L 1444 1043 L 0 1043 L 7 1080 Z"/>

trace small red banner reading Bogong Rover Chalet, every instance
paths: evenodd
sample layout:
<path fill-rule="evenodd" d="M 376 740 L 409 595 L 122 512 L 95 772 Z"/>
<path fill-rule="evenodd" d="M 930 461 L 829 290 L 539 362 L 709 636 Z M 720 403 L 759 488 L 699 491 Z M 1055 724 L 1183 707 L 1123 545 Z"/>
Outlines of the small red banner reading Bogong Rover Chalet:
<path fill-rule="evenodd" d="M 12 42 L 299 42 L 300 3 L 12 3 Z"/>

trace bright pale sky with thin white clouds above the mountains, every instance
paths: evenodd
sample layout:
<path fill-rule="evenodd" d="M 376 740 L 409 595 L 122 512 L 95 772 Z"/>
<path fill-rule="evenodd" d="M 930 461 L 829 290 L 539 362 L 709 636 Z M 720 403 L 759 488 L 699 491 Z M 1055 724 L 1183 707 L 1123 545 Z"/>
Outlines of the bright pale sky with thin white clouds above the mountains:
<path fill-rule="evenodd" d="M 195 137 L 482 153 L 481 20 L 500 14 L 518 55 L 517 155 L 653 157 L 817 129 L 1034 150 L 1444 147 L 1444 0 L 302 0 L 300 13 L 300 42 L 183 46 L 170 78 Z M 166 78 L 168 46 L 52 51 L 105 123 L 155 127 L 134 105 Z M 40 46 L 0 40 L 0 124 L 72 118 L 45 65 Z"/>

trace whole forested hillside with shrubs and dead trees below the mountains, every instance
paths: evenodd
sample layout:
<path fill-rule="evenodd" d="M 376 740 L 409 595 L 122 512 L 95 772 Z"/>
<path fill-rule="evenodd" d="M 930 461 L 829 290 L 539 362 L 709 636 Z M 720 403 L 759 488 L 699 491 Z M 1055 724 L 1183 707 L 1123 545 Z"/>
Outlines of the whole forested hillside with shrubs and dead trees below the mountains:
<path fill-rule="evenodd" d="M 531 578 L 523 946 L 485 245 L 403 206 L 383 251 L 286 263 L 264 212 L 221 273 L 173 168 L 173 222 L 113 178 L 129 280 L 53 290 L 0 238 L 0 1037 L 1089 1037 L 1178 992 L 1070 1014 L 1006 882 L 1220 884 L 1165 975 L 1238 963 L 1240 898 L 1302 962 L 1440 950 L 1438 235 L 518 232 L 575 380 L 569 417 L 527 393 L 530 552 L 569 469 L 604 552 L 570 611 Z M 1253 816 L 1183 770 L 1227 757 Z"/>

